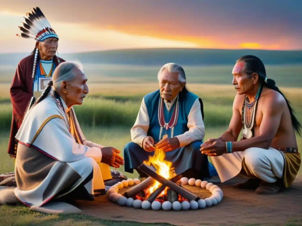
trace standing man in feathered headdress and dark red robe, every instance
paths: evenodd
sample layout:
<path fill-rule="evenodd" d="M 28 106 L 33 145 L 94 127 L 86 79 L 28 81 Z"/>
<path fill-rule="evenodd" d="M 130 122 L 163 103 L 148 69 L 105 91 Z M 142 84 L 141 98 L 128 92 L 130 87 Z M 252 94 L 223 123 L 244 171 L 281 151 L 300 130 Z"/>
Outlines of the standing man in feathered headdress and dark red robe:
<path fill-rule="evenodd" d="M 14 137 L 21 126 L 27 105 L 32 105 L 41 96 L 52 79 L 55 68 L 64 62 L 56 56 L 59 37 L 40 8 L 34 8 L 31 13 L 27 13 L 23 26 L 19 28 L 22 33 L 17 36 L 32 38 L 36 40 L 36 45 L 31 55 L 19 62 L 11 84 L 13 114 L 8 143 L 8 154 L 11 157 L 16 157 L 17 143 Z"/>

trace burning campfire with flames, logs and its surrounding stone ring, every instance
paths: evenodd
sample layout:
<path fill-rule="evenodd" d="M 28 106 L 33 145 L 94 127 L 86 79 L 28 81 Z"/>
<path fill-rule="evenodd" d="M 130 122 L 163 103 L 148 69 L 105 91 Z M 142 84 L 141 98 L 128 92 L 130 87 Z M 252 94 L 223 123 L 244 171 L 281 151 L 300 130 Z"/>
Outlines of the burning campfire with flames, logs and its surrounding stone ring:
<path fill-rule="evenodd" d="M 223 192 L 217 185 L 194 178 L 188 180 L 182 175 L 177 175 L 172 168 L 172 162 L 165 160 L 165 152 L 162 149 L 155 149 L 154 155 L 150 156 L 148 161 L 143 162 L 138 169 L 149 177 L 142 182 L 138 179 L 118 182 L 108 190 L 109 199 L 118 202 L 121 206 L 149 209 L 152 204 L 152 209 L 155 210 L 160 207 L 165 210 L 172 207 L 180 210 L 216 205 L 223 198 Z M 117 193 L 119 189 L 131 186 L 133 183 L 135 186 L 124 192 L 123 195 Z M 186 184 L 206 188 L 210 190 L 212 196 L 200 199 L 183 187 Z"/>

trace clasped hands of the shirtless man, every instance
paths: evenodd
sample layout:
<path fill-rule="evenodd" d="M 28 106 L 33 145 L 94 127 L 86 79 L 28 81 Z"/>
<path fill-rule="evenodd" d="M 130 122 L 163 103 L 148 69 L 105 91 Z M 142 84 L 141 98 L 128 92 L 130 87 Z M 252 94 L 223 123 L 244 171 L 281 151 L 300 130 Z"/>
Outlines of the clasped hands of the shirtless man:
<path fill-rule="evenodd" d="M 200 151 L 208 156 L 220 156 L 226 153 L 226 144 L 219 138 L 211 138 L 201 144 Z"/>

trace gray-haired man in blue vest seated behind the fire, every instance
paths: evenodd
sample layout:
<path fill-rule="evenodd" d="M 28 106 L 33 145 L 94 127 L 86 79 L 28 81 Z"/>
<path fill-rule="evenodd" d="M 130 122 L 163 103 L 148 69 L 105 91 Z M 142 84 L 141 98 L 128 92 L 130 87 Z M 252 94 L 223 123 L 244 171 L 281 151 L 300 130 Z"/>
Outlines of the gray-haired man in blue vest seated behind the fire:
<path fill-rule="evenodd" d="M 165 151 L 176 174 L 203 179 L 209 177 L 209 162 L 199 151 L 204 139 L 202 100 L 186 88 L 184 69 L 174 63 L 162 66 L 157 75 L 159 89 L 144 96 L 135 124 L 132 142 L 124 147 L 125 171 L 154 155 L 154 148 Z M 168 138 L 163 139 L 167 134 Z M 154 146 L 155 145 L 155 146 Z"/>

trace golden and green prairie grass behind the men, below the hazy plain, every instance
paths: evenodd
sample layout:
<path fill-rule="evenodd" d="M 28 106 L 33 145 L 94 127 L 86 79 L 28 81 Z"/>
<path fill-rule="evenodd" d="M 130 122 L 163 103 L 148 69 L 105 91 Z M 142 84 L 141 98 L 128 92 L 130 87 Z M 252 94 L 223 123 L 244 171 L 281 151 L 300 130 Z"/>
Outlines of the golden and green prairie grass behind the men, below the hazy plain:
<path fill-rule="evenodd" d="M 158 83 L 89 84 L 90 94 L 83 105 L 75 106 L 77 118 L 87 139 L 122 150 L 130 141 L 130 128 L 135 122 L 140 103 Z M 204 102 L 206 139 L 219 136 L 229 124 L 235 90 L 229 85 L 188 84 Z M 291 101 L 297 118 L 302 121 L 302 89 L 281 89 Z M 6 154 L 11 124 L 11 103 L 0 103 L 0 172 L 13 170 L 13 161 Z M 299 147 L 302 139 L 297 137 Z M 131 176 L 131 175 L 129 175 Z"/>

